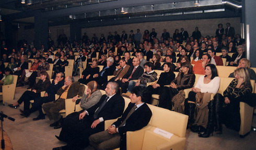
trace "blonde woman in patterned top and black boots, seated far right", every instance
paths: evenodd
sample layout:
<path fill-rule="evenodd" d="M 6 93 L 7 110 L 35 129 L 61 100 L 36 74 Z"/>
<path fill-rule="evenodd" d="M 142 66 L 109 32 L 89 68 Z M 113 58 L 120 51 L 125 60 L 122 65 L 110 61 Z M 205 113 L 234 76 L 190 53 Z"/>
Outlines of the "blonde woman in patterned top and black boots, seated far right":
<path fill-rule="evenodd" d="M 209 118 L 206 131 L 199 134 L 199 137 L 208 138 L 213 133 L 214 128 L 217 134 L 222 134 L 222 124 L 229 129 L 239 131 L 240 101 L 243 97 L 252 92 L 250 75 L 246 68 L 239 67 L 235 70 L 235 79 L 231 81 L 223 96 L 217 93 L 213 99 L 213 105 L 209 107 Z M 210 115 L 213 114 L 213 115 Z"/>

